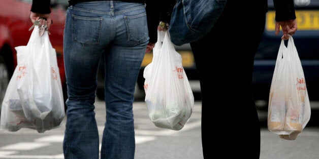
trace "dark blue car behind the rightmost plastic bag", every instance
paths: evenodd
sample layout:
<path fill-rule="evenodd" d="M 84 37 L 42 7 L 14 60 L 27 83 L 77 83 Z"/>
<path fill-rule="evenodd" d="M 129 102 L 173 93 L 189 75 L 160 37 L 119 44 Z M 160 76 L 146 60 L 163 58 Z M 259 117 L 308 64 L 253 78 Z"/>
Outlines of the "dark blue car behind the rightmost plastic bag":
<path fill-rule="evenodd" d="M 275 35 L 272 0 L 268 0 L 268 7 L 266 27 L 255 56 L 252 79 L 254 98 L 256 101 L 264 101 L 265 107 L 268 106 L 270 85 L 282 35 L 282 32 Z M 319 0 L 295 1 L 295 9 L 298 30 L 293 39 L 303 67 L 309 99 L 316 101 L 319 100 Z"/>

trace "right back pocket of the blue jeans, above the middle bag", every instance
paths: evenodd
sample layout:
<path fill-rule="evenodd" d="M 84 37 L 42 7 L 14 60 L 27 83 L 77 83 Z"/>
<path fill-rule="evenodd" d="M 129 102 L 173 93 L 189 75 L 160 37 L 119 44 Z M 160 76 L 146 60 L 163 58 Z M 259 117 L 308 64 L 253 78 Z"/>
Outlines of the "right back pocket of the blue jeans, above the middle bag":
<path fill-rule="evenodd" d="M 124 16 L 127 28 L 127 41 L 143 43 L 148 40 L 146 13 L 135 16 Z"/>

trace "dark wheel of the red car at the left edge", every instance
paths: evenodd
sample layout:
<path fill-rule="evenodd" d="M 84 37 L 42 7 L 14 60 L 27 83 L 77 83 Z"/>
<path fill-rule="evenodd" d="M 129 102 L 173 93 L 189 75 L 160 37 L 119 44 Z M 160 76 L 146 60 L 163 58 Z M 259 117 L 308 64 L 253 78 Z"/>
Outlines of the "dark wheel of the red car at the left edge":
<path fill-rule="evenodd" d="M 0 112 L 2 102 L 5 98 L 7 87 L 9 85 L 9 78 L 9 70 L 5 63 L 5 60 L 2 56 L 0 56 Z"/>

